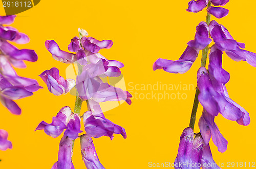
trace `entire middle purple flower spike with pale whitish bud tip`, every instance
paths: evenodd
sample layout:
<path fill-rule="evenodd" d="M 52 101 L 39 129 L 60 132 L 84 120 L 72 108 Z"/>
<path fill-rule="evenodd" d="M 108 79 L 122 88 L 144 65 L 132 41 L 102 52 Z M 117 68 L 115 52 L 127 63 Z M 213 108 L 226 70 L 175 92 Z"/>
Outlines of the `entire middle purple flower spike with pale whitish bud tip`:
<path fill-rule="evenodd" d="M 86 31 L 79 30 L 80 34 L 88 35 Z M 92 137 L 98 138 L 108 136 L 113 139 L 113 134 L 121 134 L 126 138 L 124 128 L 106 119 L 99 103 L 106 101 L 124 100 L 131 104 L 132 95 L 120 88 L 104 83 L 102 77 L 119 77 L 120 68 L 124 65 L 116 60 L 108 60 L 98 52 L 101 49 L 109 49 L 113 42 L 111 40 L 99 41 L 92 37 L 82 36 L 71 39 L 68 49 L 70 52 L 61 51 L 54 40 L 47 40 L 47 50 L 53 58 L 63 63 L 76 63 L 78 65 L 78 75 L 76 80 L 64 79 L 59 75 L 59 70 L 55 67 L 45 70 L 39 76 L 47 84 L 47 87 L 54 95 L 68 93 L 73 87 L 77 90 L 76 103 L 87 102 L 88 111 L 80 117 L 79 111 L 72 112 L 70 107 L 63 107 L 52 123 L 42 121 L 36 130 L 45 130 L 45 133 L 58 137 L 64 130 L 60 140 L 58 161 L 52 168 L 74 168 L 72 163 L 73 140 L 80 137 L 82 158 L 87 168 L 104 168 L 94 148 Z M 76 104 L 77 106 L 77 104 Z M 83 118 L 84 131 L 86 134 L 79 136 L 80 121 Z"/>

